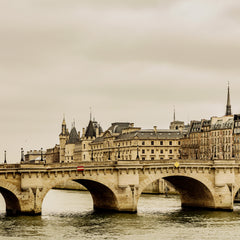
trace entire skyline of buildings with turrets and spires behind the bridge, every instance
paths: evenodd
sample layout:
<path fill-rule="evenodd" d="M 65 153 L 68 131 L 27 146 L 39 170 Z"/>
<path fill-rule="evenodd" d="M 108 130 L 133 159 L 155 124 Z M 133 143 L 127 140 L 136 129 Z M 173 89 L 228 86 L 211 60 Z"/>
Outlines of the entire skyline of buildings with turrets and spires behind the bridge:
<path fill-rule="evenodd" d="M 40 152 L 28 152 L 26 161 L 38 161 Z M 240 157 L 240 114 L 232 115 L 230 88 L 225 115 L 185 125 L 176 120 L 175 109 L 169 129 L 141 129 L 130 122 L 115 122 L 103 132 L 89 120 L 82 135 L 75 123 L 69 133 L 63 118 L 59 145 L 43 154 L 47 163 L 116 160 L 236 159 Z"/>

